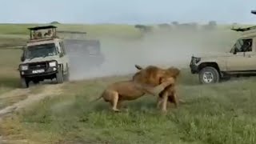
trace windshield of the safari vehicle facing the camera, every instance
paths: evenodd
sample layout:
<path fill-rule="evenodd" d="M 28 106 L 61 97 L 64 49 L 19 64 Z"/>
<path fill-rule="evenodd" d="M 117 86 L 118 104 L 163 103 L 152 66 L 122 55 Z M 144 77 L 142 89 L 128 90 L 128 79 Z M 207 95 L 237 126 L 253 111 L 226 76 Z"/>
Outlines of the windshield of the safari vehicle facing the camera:
<path fill-rule="evenodd" d="M 39 58 L 56 55 L 56 47 L 54 43 L 43 44 L 37 46 L 28 46 L 26 50 L 26 58 Z"/>

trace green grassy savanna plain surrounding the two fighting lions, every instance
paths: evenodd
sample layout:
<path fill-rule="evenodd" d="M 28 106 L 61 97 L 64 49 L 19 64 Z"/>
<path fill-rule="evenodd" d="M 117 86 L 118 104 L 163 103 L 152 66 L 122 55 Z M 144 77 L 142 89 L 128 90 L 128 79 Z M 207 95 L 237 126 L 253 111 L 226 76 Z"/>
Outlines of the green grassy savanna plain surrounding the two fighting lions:
<path fill-rule="evenodd" d="M 23 29 L 27 26 L 0 25 L 0 31 L 4 38 L 26 38 L 26 30 Z M 140 38 L 138 31 L 131 26 L 99 26 L 101 29 L 98 26 L 59 27 L 90 31 L 95 38 L 104 34 L 105 37 L 122 35 L 122 38 Z M 223 38 L 232 37 L 222 39 L 219 46 L 237 37 L 222 31 Z M 191 35 L 187 34 L 183 38 L 189 39 Z M 199 41 L 198 38 L 190 40 Z M 214 43 L 211 40 L 206 42 Z M 20 52 L 13 49 L 0 50 L 0 94 L 18 88 L 16 69 Z M 202 86 L 198 84 L 197 75 L 191 75 L 189 70 L 184 69 L 178 81 L 178 94 L 186 103 L 178 109 L 171 107 L 167 115 L 155 109 L 156 98 L 150 95 L 126 102 L 128 109 L 120 114 L 111 112 L 109 105 L 102 100 L 90 102 L 111 82 L 127 78 L 130 76 L 68 82 L 58 97 L 45 98 L 13 117 L 6 118 L 0 124 L 0 135 L 10 139 L 27 139 L 32 143 L 256 142 L 256 78 L 232 79 L 230 82 Z M 6 103 L 3 105 L 0 102 L 1 105 L 6 106 Z"/>

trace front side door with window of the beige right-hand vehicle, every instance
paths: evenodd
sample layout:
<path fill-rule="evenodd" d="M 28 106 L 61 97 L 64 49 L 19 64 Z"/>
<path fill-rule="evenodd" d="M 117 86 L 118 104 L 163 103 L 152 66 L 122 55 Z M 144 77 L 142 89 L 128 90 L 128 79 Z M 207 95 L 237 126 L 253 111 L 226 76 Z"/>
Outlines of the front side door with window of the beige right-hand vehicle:
<path fill-rule="evenodd" d="M 243 50 L 245 42 L 251 42 L 250 48 Z M 255 40 L 253 38 L 239 39 L 234 45 L 234 49 L 237 48 L 237 53 L 231 54 L 227 58 L 227 70 L 228 71 L 248 71 L 256 70 L 256 57 L 255 50 Z"/>

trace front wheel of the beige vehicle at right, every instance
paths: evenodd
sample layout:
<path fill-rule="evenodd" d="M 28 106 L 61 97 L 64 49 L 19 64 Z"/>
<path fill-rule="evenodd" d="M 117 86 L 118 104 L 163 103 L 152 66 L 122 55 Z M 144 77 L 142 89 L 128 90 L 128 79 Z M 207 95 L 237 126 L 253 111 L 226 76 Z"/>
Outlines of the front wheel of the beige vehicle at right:
<path fill-rule="evenodd" d="M 218 70 L 211 66 L 206 66 L 202 70 L 200 70 L 198 76 L 201 84 L 217 83 L 220 80 Z"/>

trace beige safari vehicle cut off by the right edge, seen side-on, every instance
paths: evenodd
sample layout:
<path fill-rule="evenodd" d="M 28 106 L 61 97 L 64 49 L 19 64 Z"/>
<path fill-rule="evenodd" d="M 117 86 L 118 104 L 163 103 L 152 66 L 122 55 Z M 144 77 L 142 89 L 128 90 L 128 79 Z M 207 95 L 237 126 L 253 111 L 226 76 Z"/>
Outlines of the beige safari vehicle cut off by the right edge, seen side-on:
<path fill-rule="evenodd" d="M 232 76 L 256 75 L 256 26 L 231 30 L 241 31 L 242 36 L 230 52 L 192 56 L 191 73 L 198 74 L 202 84 L 219 82 Z"/>

